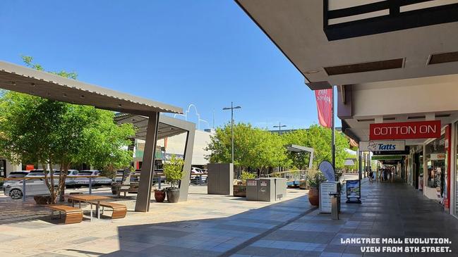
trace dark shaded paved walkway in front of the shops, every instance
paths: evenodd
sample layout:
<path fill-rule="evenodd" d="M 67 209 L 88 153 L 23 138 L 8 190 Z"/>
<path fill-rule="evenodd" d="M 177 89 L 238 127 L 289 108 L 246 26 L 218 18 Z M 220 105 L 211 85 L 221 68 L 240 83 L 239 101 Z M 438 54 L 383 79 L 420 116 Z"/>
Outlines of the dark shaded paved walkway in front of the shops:
<path fill-rule="evenodd" d="M 342 244 L 368 237 L 458 239 L 458 220 L 405 184 L 363 184 L 362 201 L 342 203 L 341 220 L 320 214 L 303 196 L 227 218 L 120 227 L 121 250 L 106 256 L 457 256 L 457 244 L 439 245 L 451 246 L 452 253 L 405 253 L 405 244 Z M 140 249 L 139 243 L 155 246 Z M 403 252 L 363 253 L 361 246 L 402 246 Z"/>

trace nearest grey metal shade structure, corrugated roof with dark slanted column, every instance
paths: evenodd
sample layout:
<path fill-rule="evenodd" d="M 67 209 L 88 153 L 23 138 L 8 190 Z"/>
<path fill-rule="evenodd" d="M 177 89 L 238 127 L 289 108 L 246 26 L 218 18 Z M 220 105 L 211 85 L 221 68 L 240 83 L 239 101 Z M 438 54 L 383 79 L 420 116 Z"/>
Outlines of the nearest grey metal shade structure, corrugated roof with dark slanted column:
<path fill-rule="evenodd" d="M 140 173 L 135 211 L 149 211 L 155 149 L 157 139 L 159 138 L 159 113 L 183 113 L 183 108 L 4 61 L 0 61 L 0 88 L 40 96 L 45 99 L 63 101 L 69 104 L 95 106 L 96 108 L 109 111 L 133 113 L 147 117 L 147 124 L 143 126 L 142 130 L 143 137 L 145 138 L 145 151 L 143 154 L 143 165 Z M 167 120 L 167 118 L 164 119 Z M 184 127 L 187 128 L 186 131 L 188 132 L 186 139 L 188 144 L 186 144 L 185 156 L 189 155 L 192 157 L 195 125 L 192 127 L 192 125 L 187 124 Z M 166 135 L 167 133 L 164 133 L 164 136 Z M 191 161 L 185 161 L 183 169 L 191 170 Z M 184 177 L 181 184 L 186 184 L 187 187 L 188 183 L 189 176 L 187 178 Z M 186 200 L 186 198 L 184 199 Z"/>

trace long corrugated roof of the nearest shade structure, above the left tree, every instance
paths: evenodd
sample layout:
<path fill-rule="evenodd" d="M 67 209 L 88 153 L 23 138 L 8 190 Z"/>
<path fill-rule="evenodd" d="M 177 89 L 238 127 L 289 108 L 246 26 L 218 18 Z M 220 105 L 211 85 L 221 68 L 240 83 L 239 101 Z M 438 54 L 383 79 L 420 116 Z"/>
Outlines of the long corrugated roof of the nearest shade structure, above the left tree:
<path fill-rule="evenodd" d="M 0 61 L 0 88 L 122 113 L 139 115 L 150 115 L 154 112 L 183 113 L 183 109 L 180 107 L 4 61 Z"/>

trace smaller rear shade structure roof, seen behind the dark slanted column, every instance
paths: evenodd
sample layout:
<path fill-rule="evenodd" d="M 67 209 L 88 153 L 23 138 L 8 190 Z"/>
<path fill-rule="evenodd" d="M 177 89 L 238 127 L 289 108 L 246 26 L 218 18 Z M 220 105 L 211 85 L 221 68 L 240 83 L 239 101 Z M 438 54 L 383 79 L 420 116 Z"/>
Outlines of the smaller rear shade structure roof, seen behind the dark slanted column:
<path fill-rule="evenodd" d="M 148 125 L 148 117 L 144 115 L 135 115 L 128 113 L 118 113 L 114 118 L 116 123 L 132 123 L 135 126 L 135 138 L 146 139 L 146 130 Z M 157 130 L 157 139 L 164 139 L 166 137 L 173 137 L 177 134 L 187 132 L 195 129 L 195 124 L 186 120 L 179 120 L 171 118 L 166 115 L 159 115 L 159 127 Z"/>

